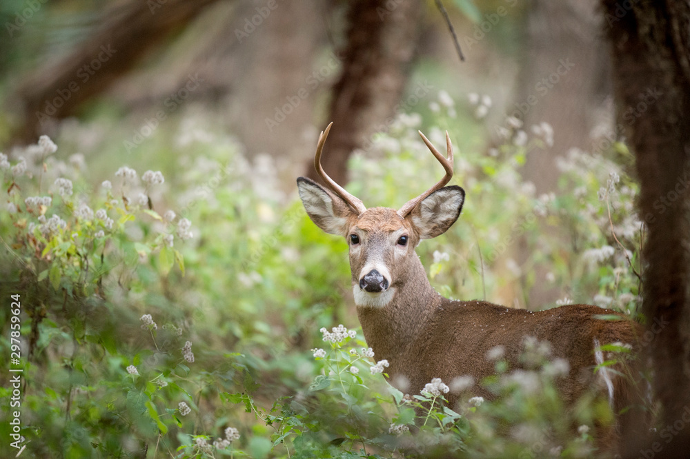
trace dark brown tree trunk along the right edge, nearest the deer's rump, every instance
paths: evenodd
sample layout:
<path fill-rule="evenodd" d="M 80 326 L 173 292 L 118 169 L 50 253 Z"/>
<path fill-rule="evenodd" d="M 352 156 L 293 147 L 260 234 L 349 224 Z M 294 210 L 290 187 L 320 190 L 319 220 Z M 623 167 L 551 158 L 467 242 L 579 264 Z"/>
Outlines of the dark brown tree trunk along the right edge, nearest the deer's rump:
<path fill-rule="evenodd" d="M 690 451 L 690 3 L 603 0 L 613 51 L 617 131 L 635 152 L 644 245 L 642 312 L 664 431 L 631 440 L 627 457 Z M 626 5 L 628 5 L 626 7 Z M 633 109 L 633 110 L 630 110 Z M 653 338 L 652 338 L 653 337 Z M 682 426 L 679 428 L 679 423 Z M 663 432 L 666 433 L 664 436 Z"/>

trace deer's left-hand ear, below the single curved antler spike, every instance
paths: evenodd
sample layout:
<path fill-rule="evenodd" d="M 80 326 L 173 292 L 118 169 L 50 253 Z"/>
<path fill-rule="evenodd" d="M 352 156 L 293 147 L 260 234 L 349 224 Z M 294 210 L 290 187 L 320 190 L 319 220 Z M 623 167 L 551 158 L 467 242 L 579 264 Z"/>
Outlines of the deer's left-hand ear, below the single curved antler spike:
<path fill-rule="evenodd" d="M 297 190 L 304 210 L 317 227 L 329 234 L 347 236 L 349 222 L 357 214 L 342 198 L 304 177 L 297 179 Z"/>

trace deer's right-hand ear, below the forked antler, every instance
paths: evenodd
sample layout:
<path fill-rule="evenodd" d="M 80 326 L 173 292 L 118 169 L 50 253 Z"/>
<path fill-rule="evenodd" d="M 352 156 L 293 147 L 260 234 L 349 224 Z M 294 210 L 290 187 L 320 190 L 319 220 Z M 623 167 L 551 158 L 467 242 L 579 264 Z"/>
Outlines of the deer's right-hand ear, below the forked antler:
<path fill-rule="evenodd" d="M 407 218 L 417 228 L 420 239 L 435 238 L 455 223 L 464 202 L 465 191 L 461 187 L 443 187 L 426 196 Z"/>

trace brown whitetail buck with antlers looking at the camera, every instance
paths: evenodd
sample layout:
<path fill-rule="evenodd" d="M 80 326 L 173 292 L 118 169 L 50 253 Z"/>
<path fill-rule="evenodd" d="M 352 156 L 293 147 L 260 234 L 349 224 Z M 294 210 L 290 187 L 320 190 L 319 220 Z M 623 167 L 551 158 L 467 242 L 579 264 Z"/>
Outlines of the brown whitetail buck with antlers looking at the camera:
<path fill-rule="evenodd" d="M 321 154 L 330 129 L 328 125 L 319 136 L 314 159 L 328 189 L 300 177 L 299 196 L 318 227 L 347 239 L 357 316 L 376 359 L 390 363 L 394 383 L 406 381 L 402 389 L 410 394 L 419 394 L 432 378 L 451 383 L 457 376 L 471 375 L 479 383 L 495 374 L 495 363 L 486 358 L 489 349 L 503 346 L 511 367 L 520 367 L 524 337 L 534 336 L 549 341 L 552 355 L 569 363 L 568 376 L 556 380 L 566 404 L 599 387 L 616 413 L 627 408 L 635 392 L 629 380 L 607 367 L 593 369 L 604 360 L 600 345 L 636 346 L 638 330 L 631 320 L 598 319 L 595 316 L 617 313 L 589 305 L 530 312 L 486 301 L 449 300 L 431 287 L 415 247 L 446 232 L 460 216 L 465 198 L 461 187 L 444 186 L 453 176 L 447 132 L 447 158 L 420 132 L 446 175 L 395 211 L 366 209 L 324 172 Z M 478 385 L 471 390 L 489 396 Z M 453 406 L 457 394 L 451 391 L 447 398 Z"/>

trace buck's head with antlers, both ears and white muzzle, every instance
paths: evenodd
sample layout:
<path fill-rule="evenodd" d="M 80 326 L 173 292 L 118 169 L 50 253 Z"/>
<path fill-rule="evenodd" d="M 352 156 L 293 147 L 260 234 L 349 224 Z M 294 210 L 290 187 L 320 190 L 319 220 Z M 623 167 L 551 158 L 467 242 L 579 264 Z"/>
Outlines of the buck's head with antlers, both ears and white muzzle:
<path fill-rule="evenodd" d="M 355 304 L 385 307 L 411 276 L 420 262 L 415 247 L 422 239 L 435 238 L 460 216 L 465 192 L 457 185 L 445 186 L 453 177 L 453 145 L 446 132 L 447 157 L 426 136 L 420 136 L 446 171 L 445 176 L 400 210 L 388 207 L 366 209 L 362 201 L 346 192 L 324 172 L 321 154 L 331 125 L 319 136 L 314 166 L 326 183 L 297 179 L 299 197 L 311 220 L 322 230 L 346 238 L 349 246 Z"/>

